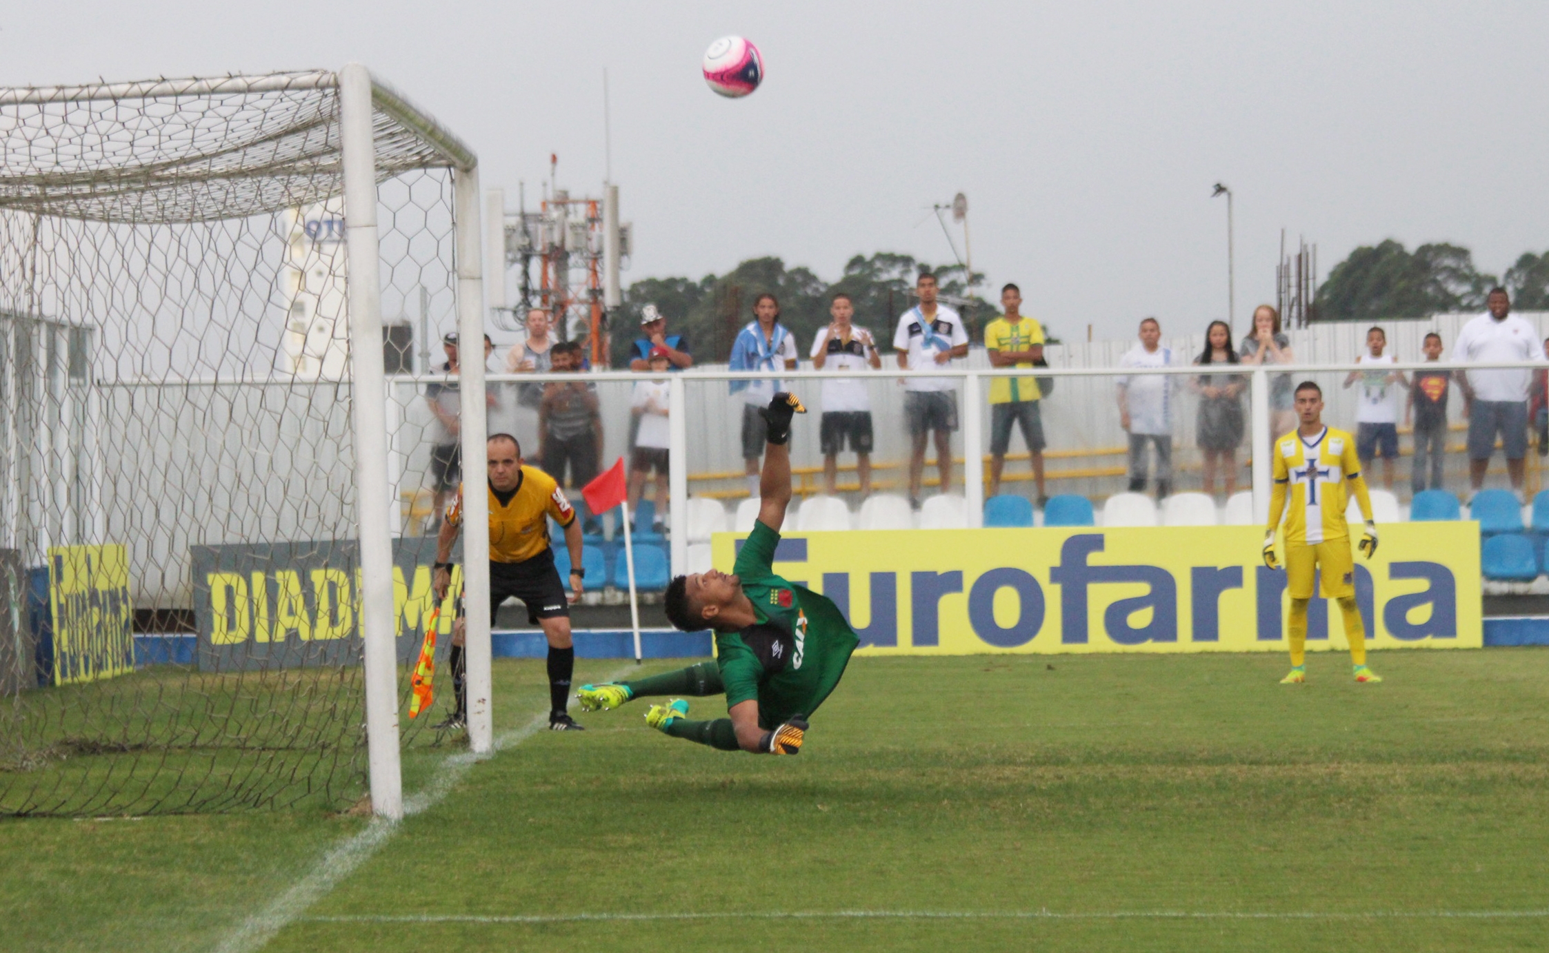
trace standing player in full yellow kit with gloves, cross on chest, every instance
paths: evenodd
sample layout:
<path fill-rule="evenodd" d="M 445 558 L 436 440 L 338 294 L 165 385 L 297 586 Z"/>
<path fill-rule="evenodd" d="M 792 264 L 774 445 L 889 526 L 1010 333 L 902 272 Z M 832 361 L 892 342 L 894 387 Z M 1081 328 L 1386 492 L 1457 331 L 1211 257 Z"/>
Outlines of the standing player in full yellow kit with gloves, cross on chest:
<path fill-rule="evenodd" d="M 1345 523 L 1345 506 L 1349 494 L 1355 494 L 1366 520 L 1358 549 L 1371 558 L 1377 552 L 1377 524 L 1371 518 L 1371 497 L 1355 456 L 1355 436 L 1323 424 L 1323 388 L 1312 381 L 1297 385 L 1295 408 L 1301 425 L 1275 441 L 1275 492 L 1269 501 L 1269 532 L 1264 537 L 1264 565 L 1278 569 L 1275 528 L 1284 514 L 1286 572 L 1290 576 L 1290 619 L 1286 628 L 1292 667 L 1290 675 L 1279 681 L 1283 685 L 1307 681 L 1307 602 L 1315 571 L 1323 569 L 1320 588 L 1324 599 L 1340 603 L 1355 681 L 1380 682 L 1366 667 L 1366 630 L 1355 606 L 1355 565 Z"/>

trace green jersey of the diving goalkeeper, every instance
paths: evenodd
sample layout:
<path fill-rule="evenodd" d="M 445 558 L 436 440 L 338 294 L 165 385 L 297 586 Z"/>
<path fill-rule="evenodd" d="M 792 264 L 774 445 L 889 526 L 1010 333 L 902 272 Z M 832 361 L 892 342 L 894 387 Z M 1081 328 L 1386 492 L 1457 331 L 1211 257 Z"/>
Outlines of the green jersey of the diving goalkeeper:
<path fill-rule="evenodd" d="M 765 729 L 793 715 L 812 715 L 840 684 L 860 644 L 832 600 L 774 576 L 778 543 L 778 532 L 762 521 L 753 524 L 733 572 L 759 620 L 734 633 L 716 633 L 726 707 L 757 699 Z"/>

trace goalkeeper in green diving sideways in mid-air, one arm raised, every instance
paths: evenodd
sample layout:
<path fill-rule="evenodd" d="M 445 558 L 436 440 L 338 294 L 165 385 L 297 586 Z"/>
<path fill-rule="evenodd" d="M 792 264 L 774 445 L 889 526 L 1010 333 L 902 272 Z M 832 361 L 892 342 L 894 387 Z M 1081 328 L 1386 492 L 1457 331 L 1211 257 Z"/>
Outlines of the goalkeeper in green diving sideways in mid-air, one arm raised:
<path fill-rule="evenodd" d="M 668 586 L 668 619 L 683 631 L 716 631 L 716 661 L 630 682 L 582 685 L 587 712 L 641 696 L 722 695 L 730 718 L 689 721 L 682 698 L 651 705 L 646 724 L 725 752 L 796 755 L 807 718 L 833 692 L 860 639 L 829 599 L 774 576 L 774 546 L 790 504 L 790 421 L 807 408 L 778 393 L 759 476 L 759 518 L 733 572 L 678 576 Z"/>

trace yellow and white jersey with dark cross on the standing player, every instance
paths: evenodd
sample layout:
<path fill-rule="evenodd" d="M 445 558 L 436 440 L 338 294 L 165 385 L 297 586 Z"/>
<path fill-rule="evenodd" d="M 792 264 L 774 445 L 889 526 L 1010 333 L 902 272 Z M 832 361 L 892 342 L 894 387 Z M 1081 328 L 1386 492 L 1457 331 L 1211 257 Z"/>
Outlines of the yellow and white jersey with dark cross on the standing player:
<path fill-rule="evenodd" d="M 1293 430 L 1275 441 L 1275 490 L 1270 497 L 1270 529 L 1286 512 L 1286 545 L 1315 545 L 1349 537 L 1345 507 L 1351 494 L 1371 518 L 1371 498 L 1360 475 L 1355 438 L 1324 427 L 1318 436 Z"/>

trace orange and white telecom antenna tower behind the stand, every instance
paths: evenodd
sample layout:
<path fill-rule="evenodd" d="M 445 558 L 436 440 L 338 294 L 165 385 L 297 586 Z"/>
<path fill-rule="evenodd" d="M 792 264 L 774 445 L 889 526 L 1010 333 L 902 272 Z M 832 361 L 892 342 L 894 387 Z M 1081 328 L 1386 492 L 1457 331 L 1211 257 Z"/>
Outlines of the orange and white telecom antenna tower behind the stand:
<path fill-rule="evenodd" d="M 558 158 L 550 155 L 548 161 L 553 181 Z M 505 223 L 496 248 L 503 244 L 502 272 L 516 269 L 520 295 L 514 308 L 507 308 L 505 282 L 493 280 L 486 299 L 496 320 L 507 326 L 502 313 L 514 313 L 516 330 L 530 308 L 544 308 L 555 317 L 559 340 L 584 342 L 592 367 L 606 368 L 609 319 L 623 303 L 620 260 L 630 254 L 630 224 L 618 221 L 618 186 L 604 184 L 603 198 L 573 198 L 567 189 L 551 187 L 536 212 L 527 210 L 525 189 L 519 193 L 517 212 L 505 212 L 500 189 L 489 189 L 485 201 L 489 220 Z"/>

